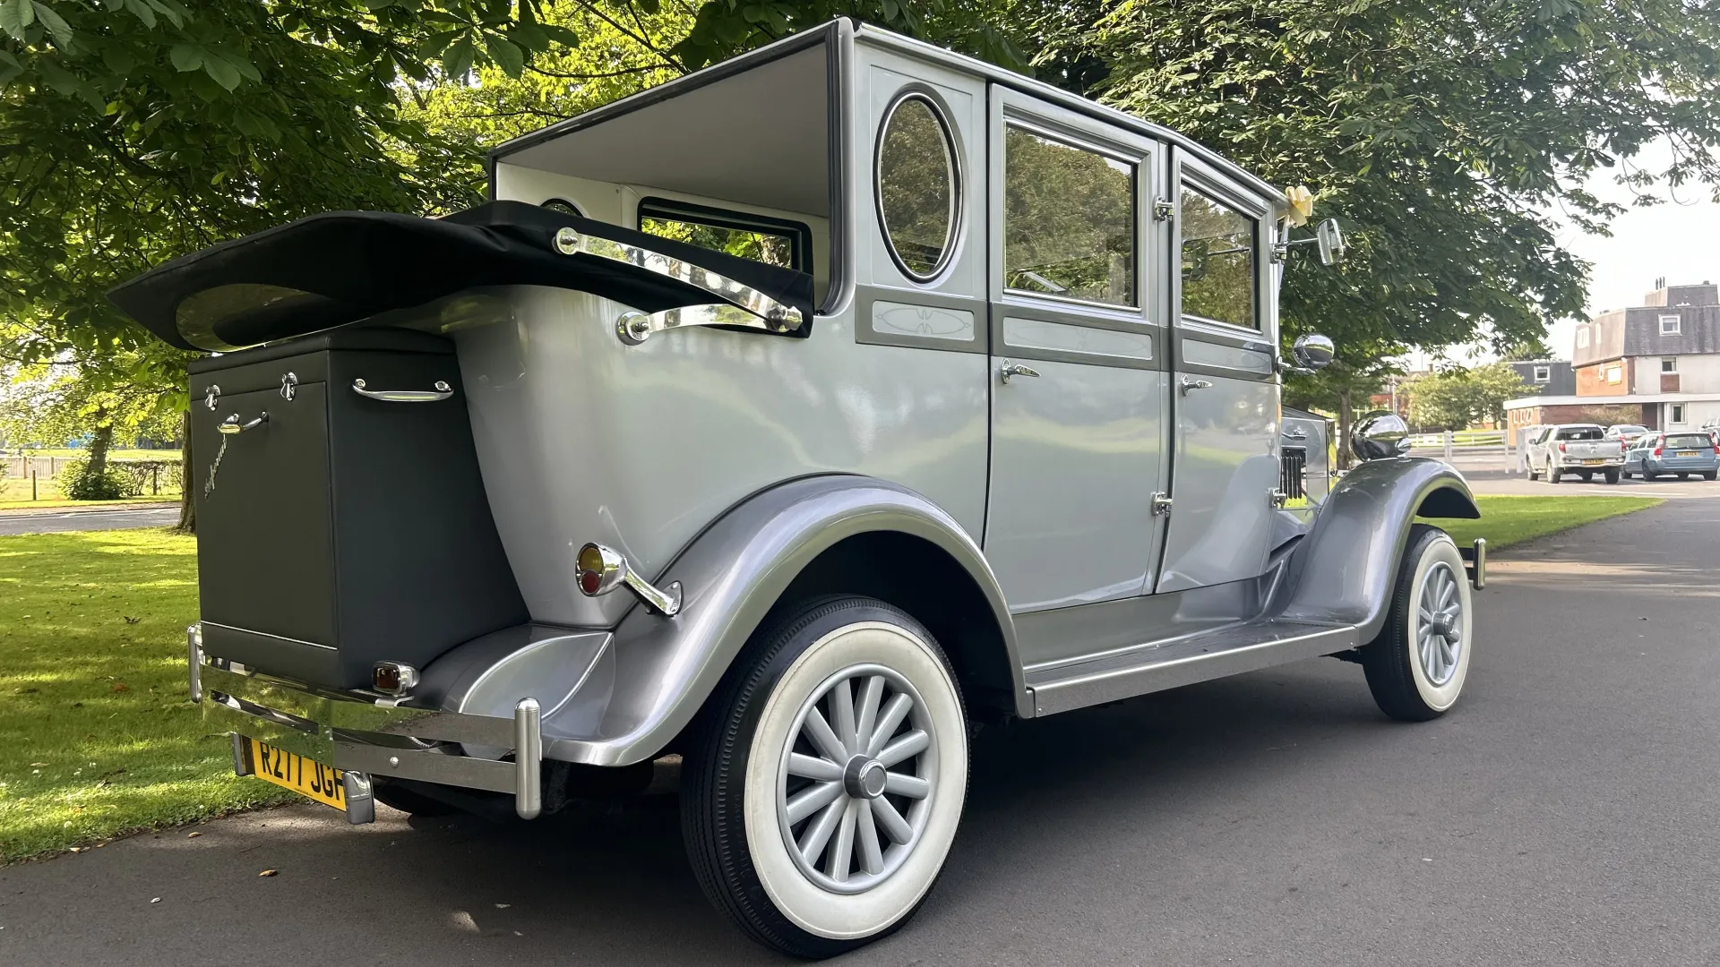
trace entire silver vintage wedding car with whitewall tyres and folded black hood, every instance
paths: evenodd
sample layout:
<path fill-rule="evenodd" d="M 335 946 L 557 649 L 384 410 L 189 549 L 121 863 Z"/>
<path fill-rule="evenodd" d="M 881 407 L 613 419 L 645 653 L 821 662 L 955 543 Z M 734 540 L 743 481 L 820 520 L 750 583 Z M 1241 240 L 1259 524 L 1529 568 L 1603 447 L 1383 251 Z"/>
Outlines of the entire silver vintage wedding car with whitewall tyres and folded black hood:
<path fill-rule="evenodd" d="M 1342 237 L 1211 150 L 836 21 L 490 196 L 112 294 L 217 353 L 189 661 L 239 773 L 530 819 L 678 754 L 712 902 L 822 957 L 927 896 L 974 721 L 1316 656 L 1457 700 L 1484 561 L 1414 518 L 1474 501 L 1391 416 L 1302 490 L 1280 373 L 1331 344 L 1281 360 L 1276 293 Z"/>

